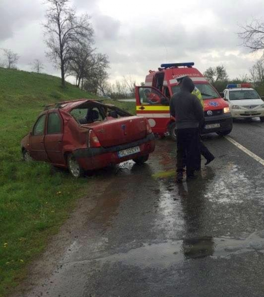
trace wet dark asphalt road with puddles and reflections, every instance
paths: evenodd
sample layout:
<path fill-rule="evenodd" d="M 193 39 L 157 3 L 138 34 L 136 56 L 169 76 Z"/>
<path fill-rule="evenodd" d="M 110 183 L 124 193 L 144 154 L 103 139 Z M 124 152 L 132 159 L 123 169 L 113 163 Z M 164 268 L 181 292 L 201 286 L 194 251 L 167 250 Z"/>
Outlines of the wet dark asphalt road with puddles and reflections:
<path fill-rule="evenodd" d="M 264 123 L 230 136 L 264 158 Z M 168 139 L 143 166 L 99 170 L 63 252 L 19 296 L 264 296 L 263 165 L 216 134 L 204 142 L 216 159 L 197 180 L 176 184 Z"/>

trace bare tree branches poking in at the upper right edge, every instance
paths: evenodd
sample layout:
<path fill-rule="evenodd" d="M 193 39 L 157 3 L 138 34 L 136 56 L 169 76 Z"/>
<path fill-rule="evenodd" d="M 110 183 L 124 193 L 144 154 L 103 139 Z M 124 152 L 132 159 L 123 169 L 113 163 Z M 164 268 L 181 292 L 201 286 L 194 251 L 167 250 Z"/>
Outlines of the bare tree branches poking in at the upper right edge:
<path fill-rule="evenodd" d="M 245 26 L 241 26 L 241 29 L 238 35 L 243 40 L 242 45 L 250 48 L 252 52 L 264 49 L 264 22 L 253 19 Z"/>

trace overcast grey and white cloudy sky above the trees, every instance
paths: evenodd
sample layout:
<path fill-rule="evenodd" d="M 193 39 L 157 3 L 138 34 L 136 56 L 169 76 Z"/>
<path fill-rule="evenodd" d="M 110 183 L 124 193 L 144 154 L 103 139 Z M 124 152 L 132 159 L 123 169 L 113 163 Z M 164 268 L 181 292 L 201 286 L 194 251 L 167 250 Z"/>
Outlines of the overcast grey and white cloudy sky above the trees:
<path fill-rule="evenodd" d="M 59 71 L 45 58 L 43 0 L 0 0 L 0 48 L 18 53 L 19 69 L 40 59 L 45 72 Z M 137 83 L 166 62 L 195 62 L 201 72 L 224 65 L 230 78 L 249 72 L 261 55 L 240 46 L 239 25 L 264 21 L 263 0 L 72 0 L 88 13 L 98 51 L 110 60 L 110 79 L 132 75 Z M 0 53 L 0 61 L 2 54 Z"/>

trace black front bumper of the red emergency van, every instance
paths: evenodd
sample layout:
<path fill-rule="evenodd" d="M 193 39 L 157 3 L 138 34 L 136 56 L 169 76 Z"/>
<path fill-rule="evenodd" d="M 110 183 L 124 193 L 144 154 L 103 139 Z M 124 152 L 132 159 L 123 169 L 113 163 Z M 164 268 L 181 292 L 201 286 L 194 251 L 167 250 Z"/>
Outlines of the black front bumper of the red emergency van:
<path fill-rule="evenodd" d="M 210 128 L 210 126 L 208 126 L 214 124 L 219 124 L 219 127 Z M 206 116 L 202 134 L 232 130 L 232 127 L 233 119 L 231 113 L 223 113 L 219 116 Z"/>

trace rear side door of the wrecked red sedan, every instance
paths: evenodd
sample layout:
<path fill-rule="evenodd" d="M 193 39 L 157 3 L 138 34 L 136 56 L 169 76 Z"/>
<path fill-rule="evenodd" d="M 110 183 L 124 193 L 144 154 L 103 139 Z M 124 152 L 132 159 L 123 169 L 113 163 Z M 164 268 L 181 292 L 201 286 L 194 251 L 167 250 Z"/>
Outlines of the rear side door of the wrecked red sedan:
<path fill-rule="evenodd" d="M 50 162 L 54 165 L 66 165 L 63 155 L 63 121 L 59 110 L 50 110 L 48 113 L 44 141 Z"/>

